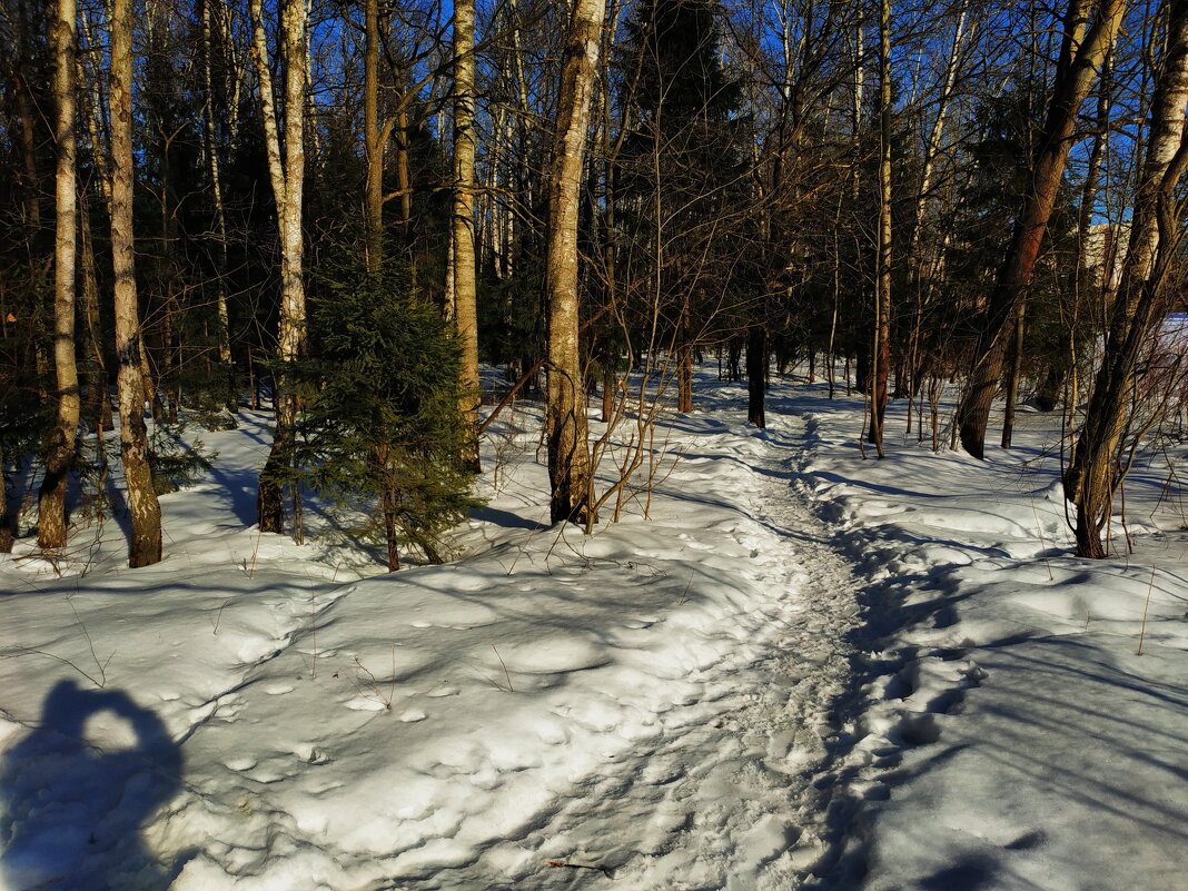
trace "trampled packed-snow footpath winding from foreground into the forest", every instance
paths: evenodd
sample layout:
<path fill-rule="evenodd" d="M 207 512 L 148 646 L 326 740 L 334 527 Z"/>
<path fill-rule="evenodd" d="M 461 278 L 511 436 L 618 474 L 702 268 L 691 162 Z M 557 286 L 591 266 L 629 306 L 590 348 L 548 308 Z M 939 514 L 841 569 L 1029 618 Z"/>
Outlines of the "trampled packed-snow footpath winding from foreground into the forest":
<path fill-rule="evenodd" d="M 764 646 L 723 655 L 701 672 L 683 718 L 617 753 L 539 815 L 520 845 L 567 864 L 552 868 L 571 871 L 575 887 L 595 866 L 617 889 L 792 889 L 832 859 L 826 738 L 849 682 L 846 638 L 858 621 L 859 584 L 791 486 L 803 422 L 776 419 L 753 442 L 753 487 L 740 505 L 750 522 L 732 535 L 747 550 L 744 576 L 779 592 L 753 617 L 769 628 Z M 694 441 L 701 453 L 713 444 Z M 697 476 L 690 460 L 672 474 L 677 491 Z M 693 550 L 714 546 L 697 532 L 681 537 Z M 480 861 L 428 880 L 466 889 L 491 879 Z M 568 886 L 562 879 L 538 873 L 517 887 Z"/>

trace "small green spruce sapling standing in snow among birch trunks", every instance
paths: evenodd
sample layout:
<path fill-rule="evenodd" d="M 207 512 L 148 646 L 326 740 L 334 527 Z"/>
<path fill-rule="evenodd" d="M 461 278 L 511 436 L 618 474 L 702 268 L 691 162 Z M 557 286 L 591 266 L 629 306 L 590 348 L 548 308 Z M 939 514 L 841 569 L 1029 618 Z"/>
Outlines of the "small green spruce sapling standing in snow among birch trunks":
<path fill-rule="evenodd" d="M 388 570 L 409 546 L 440 563 L 442 533 L 478 505 L 460 461 L 459 340 L 391 268 L 333 271 L 320 291 L 297 373 L 304 479 L 367 510 Z"/>

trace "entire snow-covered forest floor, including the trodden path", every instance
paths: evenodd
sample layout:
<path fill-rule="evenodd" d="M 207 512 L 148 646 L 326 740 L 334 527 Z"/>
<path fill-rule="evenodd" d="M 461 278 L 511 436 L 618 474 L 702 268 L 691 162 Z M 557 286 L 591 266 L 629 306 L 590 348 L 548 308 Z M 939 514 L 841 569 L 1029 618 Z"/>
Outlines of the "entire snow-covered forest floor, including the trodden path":
<path fill-rule="evenodd" d="M 714 377 L 588 537 L 519 403 L 444 565 L 383 573 L 316 500 L 309 544 L 259 535 L 251 412 L 158 565 L 119 503 L 20 539 L 0 889 L 1188 887 L 1183 447 L 1087 562 L 1059 415 L 978 462 L 896 404 L 878 461 L 859 397 L 777 379 L 760 431 Z"/>

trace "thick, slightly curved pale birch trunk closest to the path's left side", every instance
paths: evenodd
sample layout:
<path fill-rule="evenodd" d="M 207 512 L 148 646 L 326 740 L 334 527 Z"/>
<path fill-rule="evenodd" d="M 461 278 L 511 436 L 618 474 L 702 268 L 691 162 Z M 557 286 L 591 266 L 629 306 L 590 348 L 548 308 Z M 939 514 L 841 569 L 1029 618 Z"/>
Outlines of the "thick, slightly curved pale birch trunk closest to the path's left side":
<path fill-rule="evenodd" d="M 606 0 L 577 0 L 569 23 L 549 178 L 549 516 L 584 526 L 592 514 L 589 431 L 579 350 L 577 220 L 594 71 Z"/>

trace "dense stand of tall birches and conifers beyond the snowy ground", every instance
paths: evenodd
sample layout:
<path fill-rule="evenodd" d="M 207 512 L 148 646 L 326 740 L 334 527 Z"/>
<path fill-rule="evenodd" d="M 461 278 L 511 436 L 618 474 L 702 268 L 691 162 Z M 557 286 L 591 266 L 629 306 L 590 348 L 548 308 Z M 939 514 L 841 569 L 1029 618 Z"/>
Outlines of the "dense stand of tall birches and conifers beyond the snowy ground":
<path fill-rule="evenodd" d="M 131 562 L 159 560 L 146 409 L 226 424 L 261 397 L 260 529 L 299 539 L 310 405 L 341 391 L 309 383 L 333 337 L 307 303 L 337 299 L 324 270 L 349 257 L 453 330 L 459 468 L 480 360 L 543 388 L 555 522 L 589 527 L 625 485 L 595 491 L 592 396 L 608 426 L 657 391 L 689 411 L 696 361 L 741 377 L 745 353 L 752 422 L 772 369 L 805 362 L 866 394 L 879 455 L 892 399 L 978 457 L 998 396 L 1004 447 L 1017 400 L 1060 406 L 1078 546 L 1101 556 L 1178 399 L 1158 335 L 1186 6 L 2 0 L 4 543 L 37 479 L 38 541 L 65 545 L 71 479 L 108 485 L 82 443 L 114 404 Z M 393 448 L 365 463 L 396 568 L 415 499 Z"/>

